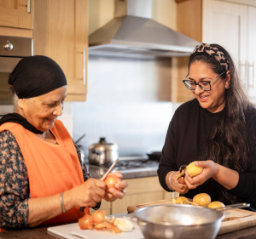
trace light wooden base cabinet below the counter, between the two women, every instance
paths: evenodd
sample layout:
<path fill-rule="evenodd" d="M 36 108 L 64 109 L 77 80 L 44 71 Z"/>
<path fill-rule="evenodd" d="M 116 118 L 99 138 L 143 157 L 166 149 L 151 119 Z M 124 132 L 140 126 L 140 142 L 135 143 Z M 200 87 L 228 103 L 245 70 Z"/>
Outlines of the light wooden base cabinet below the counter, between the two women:
<path fill-rule="evenodd" d="M 128 187 L 125 189 L 126 192 L 123 199 L 117 199 L 114 202 L 102 200 L 101 210 L 105 211 L 107 215 L 127 213 L 127 208 L 131 205 L 154 202 L 178 196 L 177 192 L 172 193 L 165 191 L 161 187 L 157 176 L 126 179 L 126 181 Z M 93 209 L 90 209 L 90 212 L 93 211 Z"/>

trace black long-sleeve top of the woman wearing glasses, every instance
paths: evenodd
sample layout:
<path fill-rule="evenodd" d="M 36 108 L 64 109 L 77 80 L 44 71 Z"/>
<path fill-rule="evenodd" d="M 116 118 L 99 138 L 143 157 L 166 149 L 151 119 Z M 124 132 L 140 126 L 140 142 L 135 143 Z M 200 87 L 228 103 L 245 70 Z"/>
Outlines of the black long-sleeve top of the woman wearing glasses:
<path fill-rule="evenodd" d="M 196 99 L 184 103 L 175 111 L 166 134 L 157 171 L 160 185 L 166 191 L 171 191 L 166 185 L 166 174 L 177 171 L 181 165 L 194 162 L 201 151 L 205 150 L 207 139 L 216 126 L 218 114 L 201 108 Z M 247 121 L 247 133 L 250 145 L 256 145 L 256 115 Z M 252 140 L 255 141 L 253 144 Z M 250 155 L 248 168 L 246 172 L 238 172 L 238 184 L 230 190 L 230 193 L 241 202 L 250 203 L 251 207 L 256 209 L 256 149 Z M 190 190 L 184 196 L 193 198 L 196 194 L 205 192 L 211 196 L 212 201 L 219 201 L 218 191 L 212 187 L 211 180 L 214 179 L 208 179 L 203 185 Z"/>

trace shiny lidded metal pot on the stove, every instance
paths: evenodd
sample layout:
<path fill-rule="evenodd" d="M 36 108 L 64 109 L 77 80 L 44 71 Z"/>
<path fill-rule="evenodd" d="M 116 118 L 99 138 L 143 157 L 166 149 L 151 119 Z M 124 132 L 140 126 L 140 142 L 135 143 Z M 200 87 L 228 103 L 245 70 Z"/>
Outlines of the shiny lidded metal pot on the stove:
<path fill-rule="evenodd" d="M 105 138 L 100 138 L 98 143 L 89 146 L 88 160 L 91 164 L 108 166 L 115 162 L 118 157 L 118 145 L 108 143 Z"/>

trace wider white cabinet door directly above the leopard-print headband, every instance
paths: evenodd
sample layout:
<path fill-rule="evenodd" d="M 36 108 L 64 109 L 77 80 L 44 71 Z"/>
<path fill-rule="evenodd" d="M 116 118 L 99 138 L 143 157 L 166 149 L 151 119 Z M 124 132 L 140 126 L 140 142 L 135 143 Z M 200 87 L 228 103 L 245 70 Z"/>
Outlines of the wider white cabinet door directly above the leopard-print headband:
<path fill-rule="evenodd" d="M 247 6 L 203 1 L 203 43 L 218 43 L 230 52 L 244 79 L 247 61 Z"/>

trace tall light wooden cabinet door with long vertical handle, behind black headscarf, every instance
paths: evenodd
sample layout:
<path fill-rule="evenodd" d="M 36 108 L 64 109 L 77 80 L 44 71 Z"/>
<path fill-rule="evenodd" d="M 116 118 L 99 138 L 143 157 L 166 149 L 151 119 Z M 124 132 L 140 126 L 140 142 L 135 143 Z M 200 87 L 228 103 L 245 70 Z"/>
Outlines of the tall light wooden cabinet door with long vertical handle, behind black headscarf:
<path fill-rule="evenodd" d="M 67 77 L 67 101 L 87 93 L 87 0 L 35 0 L 34 54 L 56 61 Z"/>

